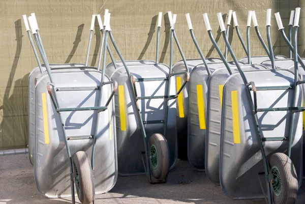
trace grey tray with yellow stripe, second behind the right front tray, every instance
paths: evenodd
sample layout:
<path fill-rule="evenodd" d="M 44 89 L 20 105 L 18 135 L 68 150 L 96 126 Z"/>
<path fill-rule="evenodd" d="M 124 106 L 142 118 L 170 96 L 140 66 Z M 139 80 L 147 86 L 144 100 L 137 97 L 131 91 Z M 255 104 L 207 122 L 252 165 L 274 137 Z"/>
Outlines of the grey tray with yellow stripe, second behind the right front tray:
<path fill-rule="evenodd" d="M 234 66 L 234 62 L 228 62 Z M 245 65 L 240 62 L 240 65 Z M 224 67 L 224 63 L 210 63 L 210 72 Z M 206 103 L 208 74 L 204 64 L 197 65 L 190 74 L 188 94 L 188 160 L 197 169 L 204 169 Z"/>

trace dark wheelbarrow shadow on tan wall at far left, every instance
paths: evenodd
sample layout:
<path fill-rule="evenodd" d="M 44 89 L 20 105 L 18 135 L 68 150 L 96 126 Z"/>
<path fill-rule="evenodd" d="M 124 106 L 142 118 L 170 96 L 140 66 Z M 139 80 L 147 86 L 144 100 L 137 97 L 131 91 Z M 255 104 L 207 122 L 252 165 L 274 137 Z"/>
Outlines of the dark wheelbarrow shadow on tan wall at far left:
<path fill-rule="evenodd" d="M 16 80 L 14 85 L 11 82 L 16 73 L 22 48 L 21 19 L 15 21 L 15 32 L 15 57 L 6 85 L 3 104 L 0 107 L 3 110 L 3 121 L 0 126 L 0 132 L 3 135 L 3 147 L 0 147 L 0 149 L 24 148 L 27 144 L 27 92 L 23 93 L 24 88 L 22 84 L 27 84 L 28 74 L 22 79 Z M 13 90 L 13 93 L 10 96 L 11 90 Z"/>

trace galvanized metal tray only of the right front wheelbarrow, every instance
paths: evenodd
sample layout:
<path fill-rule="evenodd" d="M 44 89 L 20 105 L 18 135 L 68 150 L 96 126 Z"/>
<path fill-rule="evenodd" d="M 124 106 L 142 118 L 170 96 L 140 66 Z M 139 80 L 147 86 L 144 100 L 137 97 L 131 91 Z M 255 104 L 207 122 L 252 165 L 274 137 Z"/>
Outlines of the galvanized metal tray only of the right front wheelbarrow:
<path fill-rule="evenodd" d="M 245 72 L 248 81 L 260 86 L 291 86 L 294 74 L 290 70 L 257 70 Z M 268 80 L 266 80 L 268 79 Z M 296 106 L 301 106 L 300 86 L 296 90 Z M 253 92 L 251 92 L 253 98 Z M 257 91 L 257 106 L 291 107 L 292 90 Z M 253 100 L 253 99 L 252 99 Z M 289 135 L 290 111 L 258 112 L 258 124 L 264 138 Z M 295 166 L 299 184 L 302 163 L 302 117 L 294 113 L 291 160 Z M 223 89 L 220 151 L 220 184 L 224 193 L 233 199 L 264 197 L 266 180 L 250 99 L 240 74 L 231 75 Z M 276 138 L 275 138 L 276 139 Z M 265 141 L 267 159 L 276 152 L 285 152 L 288 141 Z M 263 189 L 263 190 L 262 190 Z"/>

